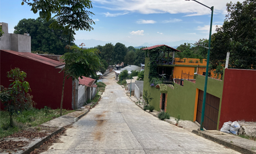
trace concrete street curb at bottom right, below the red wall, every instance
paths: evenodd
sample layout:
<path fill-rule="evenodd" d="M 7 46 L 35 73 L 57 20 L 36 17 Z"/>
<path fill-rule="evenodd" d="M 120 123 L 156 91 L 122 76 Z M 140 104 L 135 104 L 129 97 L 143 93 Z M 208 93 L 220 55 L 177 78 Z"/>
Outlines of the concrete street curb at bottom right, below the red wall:
<path fill-rule="evenodd" d="M 230 142 L 220 139 L 218 137 L 213 137 L 212 135 L 203 133 L 203 131 L 193 130 L 192 133 L 199 135 L 201 137 L 204 137 L 205 139 L 209 139 L 211 141 L 219 143 L 220 145 L 224 145 L 225 147 L 228 147 L 228 148 L 238 151 L 240 153 L 256 154 L 255 151 L 251 151 L 249 149 L 246 149 L 245 147 L 242 147 L 241 145 L 237 145 L 235 143 L 230 143 Z"/>

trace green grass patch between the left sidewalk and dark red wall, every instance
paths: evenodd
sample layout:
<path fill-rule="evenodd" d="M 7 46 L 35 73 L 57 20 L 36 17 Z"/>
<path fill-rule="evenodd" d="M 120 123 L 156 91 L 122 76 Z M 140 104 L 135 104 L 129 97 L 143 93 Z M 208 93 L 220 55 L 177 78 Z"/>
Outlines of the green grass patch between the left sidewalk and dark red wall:
<path fill-rule="evenodd" d="M 69 112 L 75 110 L 62 110 L 62 114 L 65 115 Z M 14 127 L 9 127 L 9 114 L 7 111 L 0 111 L 0 138 L 7 137 L 18 131 L 22 131 L 28 127 L 36 127 L 45 123 L 46 121 L 51 121 L 59 117 L 60 109 L 52 110 L 50 108 L 32 108 L 30 110 L 24 110 L 19 114 L 13 114 Z"/>

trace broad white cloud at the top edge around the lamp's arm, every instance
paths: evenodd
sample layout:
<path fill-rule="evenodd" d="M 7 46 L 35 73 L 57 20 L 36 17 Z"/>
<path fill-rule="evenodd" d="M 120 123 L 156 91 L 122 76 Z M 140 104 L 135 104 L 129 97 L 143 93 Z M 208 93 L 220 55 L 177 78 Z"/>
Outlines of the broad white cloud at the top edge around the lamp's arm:
<path fill-rule="evenodd" d="M 238 0 L 242 2 L 243 0 Z M 226 3 L 230 0 L 201 0 L 201 3 L 208 7 L 214 6 L 214 13 L 223 13 L 226 10 Z M 108 10 L 139 12 L 142 14 L 150 13 L 187 13 L 192 15 L 209 15 L 211 10 L 195 1 L 177 1 L 177 0 L 94 0 L 95 7 L 101 7 Z"/>

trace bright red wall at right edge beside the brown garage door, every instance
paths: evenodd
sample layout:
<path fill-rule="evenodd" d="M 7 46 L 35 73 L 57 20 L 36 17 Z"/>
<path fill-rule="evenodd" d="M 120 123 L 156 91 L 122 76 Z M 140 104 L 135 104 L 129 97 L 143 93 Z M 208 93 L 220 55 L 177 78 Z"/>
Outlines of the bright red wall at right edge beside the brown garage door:
<path fill-rule="evenodd" d="M 227 121 L 256 121 L 256 70 L 226 69 L 220 125 Z"/>

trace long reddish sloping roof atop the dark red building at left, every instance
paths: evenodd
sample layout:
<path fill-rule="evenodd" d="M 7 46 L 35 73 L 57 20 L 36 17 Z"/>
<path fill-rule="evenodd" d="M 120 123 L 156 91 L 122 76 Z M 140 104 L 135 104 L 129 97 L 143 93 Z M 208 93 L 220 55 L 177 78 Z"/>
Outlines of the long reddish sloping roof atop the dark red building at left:
<path fill-rule="evenodd" d="M 9 54 L 14 54 L 16 56 L 28 58 L 30 60 L 34 60 L 34 61 L 37 61 L 37 62 L 41 62 L 41 63 L 46 64 L 46 65 L 54 66 L 55 68 L 65 65 L 64 62 L 59 62 L 57 60 L 52 60 L 50 58 L 39 56 L 37 54 L 33 54 L 33 53 L 30 53 L 30 52 L 15 52 L 15 51 L 12 51 L 12 50 L 1 50 L 1 51 L 2 52 L 8 52 Z"/>

